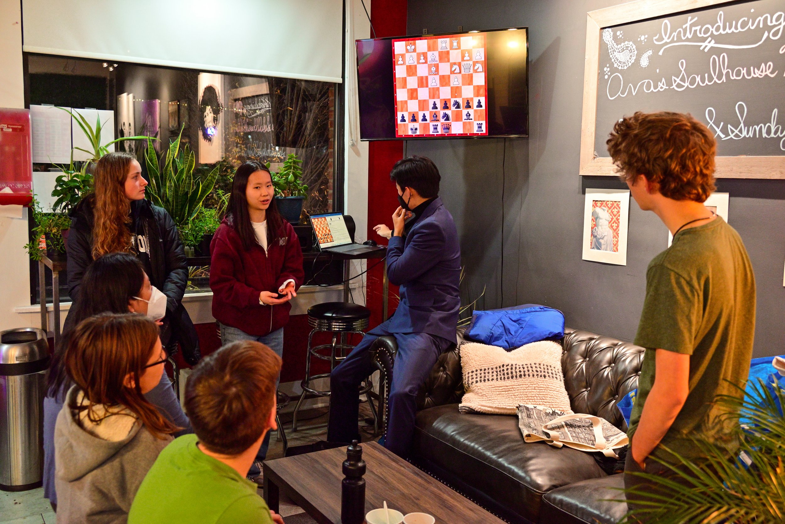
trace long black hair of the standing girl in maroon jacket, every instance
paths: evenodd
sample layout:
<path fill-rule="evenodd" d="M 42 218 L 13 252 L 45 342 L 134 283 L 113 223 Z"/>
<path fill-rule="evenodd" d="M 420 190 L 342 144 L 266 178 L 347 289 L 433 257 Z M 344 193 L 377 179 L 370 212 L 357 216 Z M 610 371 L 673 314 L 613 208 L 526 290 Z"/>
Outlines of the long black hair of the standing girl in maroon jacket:
<path fill-rule="evenodd" d="M 250 224 L 250 214 L 248 213 L 248 200 L 245 196 L 248 185 L 248 177 L 257 171 L 265 171 L 272 179 L 272 173 L 261 162 L 243 162 L 235 172 L 235 180 L 232 182 L 232 195 L 229 195 L 229 212 L 227 213 L 228 224 L 237 231 L 240 240 L 243 242 L 243 249 L 250 249 L 256 244 L 254 226 Z M 276 198 L 272 198 L 270 206 L 265 213 L 267 220 L 267 245 L 272 246 L 272 242 L 282 234 L 284 219 L 278 212 Z"/>

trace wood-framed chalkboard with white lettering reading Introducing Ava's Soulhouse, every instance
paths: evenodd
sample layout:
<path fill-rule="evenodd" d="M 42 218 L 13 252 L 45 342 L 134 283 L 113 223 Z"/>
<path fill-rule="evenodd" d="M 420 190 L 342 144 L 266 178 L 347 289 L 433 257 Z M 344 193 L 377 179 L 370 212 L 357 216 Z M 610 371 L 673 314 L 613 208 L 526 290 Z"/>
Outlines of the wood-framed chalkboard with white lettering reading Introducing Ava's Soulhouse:
<path fill-rule="evenodd" d="M 619 118 L 678 111 L 714 133 L 717 176 L 785 178 L 783 0 L 630 2 L 589 13 L 586 42 L 582 175 L 613 173 Z"/>

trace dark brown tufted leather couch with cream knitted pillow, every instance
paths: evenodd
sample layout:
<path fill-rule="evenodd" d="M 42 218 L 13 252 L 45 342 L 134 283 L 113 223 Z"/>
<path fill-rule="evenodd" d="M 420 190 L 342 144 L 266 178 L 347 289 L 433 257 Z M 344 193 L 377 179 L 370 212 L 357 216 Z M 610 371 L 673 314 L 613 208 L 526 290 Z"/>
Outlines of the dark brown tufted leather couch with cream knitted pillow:
<path fill-rule="evenodd" d="M 458 343 L 462 340 L 458 334 Z M 644 349 L 588 331 L 566 329 L 561 358 L 575 413 L 603 417 L 626 431 L 616 402 L 637 388 Z M 372 348 L 382 371 L 382 395 L 396 351 L 393 337 Z M 410 460 L 499 518 L 517 523 L 618 522 L 626 504 L 623 475 L 608 475 L 591 453 L 544 442 L 525 443 L 518 419 L 458 413 L 463 395 L 458 348 L 444 352 L 418 395 Z M 385 406 L 382 424 L 386 420 Z"/>

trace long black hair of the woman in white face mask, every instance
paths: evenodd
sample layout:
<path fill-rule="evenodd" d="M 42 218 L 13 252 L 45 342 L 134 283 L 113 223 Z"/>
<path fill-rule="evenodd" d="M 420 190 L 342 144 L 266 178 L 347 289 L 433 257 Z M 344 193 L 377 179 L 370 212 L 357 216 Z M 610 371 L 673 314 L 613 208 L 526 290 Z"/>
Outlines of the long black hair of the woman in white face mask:
<path fill-rule="evenodd" d="M 82 293 L 68 312 L 67 326 L 52 355 L 47 373 L 49 396 L 64 394 L 64 386 L 71 384 L 66 373 L 63 353 L 71 333 L 85 318 L 99 313 L 128 313 L 128 302 L 139 296 L 144 286 L 144 267 L 130 253 L 108 253 L 93 260 L 82 277 Z"/>

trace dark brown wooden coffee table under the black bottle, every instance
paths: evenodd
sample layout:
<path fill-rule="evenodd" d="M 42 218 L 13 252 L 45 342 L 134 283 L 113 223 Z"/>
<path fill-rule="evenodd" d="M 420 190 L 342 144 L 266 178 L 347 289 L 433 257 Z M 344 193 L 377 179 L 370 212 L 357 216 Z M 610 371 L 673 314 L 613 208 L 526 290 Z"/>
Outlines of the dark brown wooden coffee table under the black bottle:
<path fill-rule="evenodd" d="M 429 513 L 436 524 L 504 524 L 488 511 L 462 497 L 376 442 L 363 445 L 365 512 L 388 508 L 406 515 Z M 265 500 L 278 511 L 279 493 L 285 493 L 319 524 L 341 524 L 341 464 L 346 448 L 325 449 L 265 462 Z"/>

